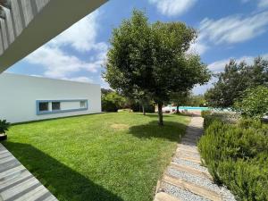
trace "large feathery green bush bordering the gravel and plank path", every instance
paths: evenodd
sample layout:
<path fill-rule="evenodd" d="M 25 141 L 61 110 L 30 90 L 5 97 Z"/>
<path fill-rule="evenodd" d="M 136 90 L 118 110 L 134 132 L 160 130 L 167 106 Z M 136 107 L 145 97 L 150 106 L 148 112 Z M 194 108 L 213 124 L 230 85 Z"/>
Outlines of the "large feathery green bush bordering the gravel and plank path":
<path fill-rule="evenodd" d="M 205 135 L 198 148 L 214 180 L 239 200 L 268 200 L 268 136 L 261 121 L 230 124 L 205 117 Z"/>

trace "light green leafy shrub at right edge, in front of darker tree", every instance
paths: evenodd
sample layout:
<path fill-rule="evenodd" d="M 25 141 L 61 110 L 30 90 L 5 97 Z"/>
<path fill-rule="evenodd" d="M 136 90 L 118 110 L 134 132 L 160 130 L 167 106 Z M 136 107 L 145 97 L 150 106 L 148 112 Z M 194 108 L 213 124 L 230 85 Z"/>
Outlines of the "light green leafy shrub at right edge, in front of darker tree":
<path fill-rule="evenodd" d="M 247 89 L 242 100 L 235 103 L 235 108 L 247 117 L 263 118 L 268 113 L 268 87 Z"/>

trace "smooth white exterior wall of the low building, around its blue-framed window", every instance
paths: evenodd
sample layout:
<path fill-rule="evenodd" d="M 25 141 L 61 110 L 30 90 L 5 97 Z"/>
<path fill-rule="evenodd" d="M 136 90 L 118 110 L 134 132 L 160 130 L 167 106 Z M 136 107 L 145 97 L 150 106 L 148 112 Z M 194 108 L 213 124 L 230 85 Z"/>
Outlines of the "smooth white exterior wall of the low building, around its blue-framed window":
<path fill-rule="evenodd" d="M 101 112 L 99 85 L 17 75 L 0 74 L 0 119 L 9 122 L 36 121 L 49 118 Z M 88 100 L 88 109 L 65 113 L 37 113 L 37 100 Z M 62 102 L 62 109 L 75 109 L 79 102 Z"/>

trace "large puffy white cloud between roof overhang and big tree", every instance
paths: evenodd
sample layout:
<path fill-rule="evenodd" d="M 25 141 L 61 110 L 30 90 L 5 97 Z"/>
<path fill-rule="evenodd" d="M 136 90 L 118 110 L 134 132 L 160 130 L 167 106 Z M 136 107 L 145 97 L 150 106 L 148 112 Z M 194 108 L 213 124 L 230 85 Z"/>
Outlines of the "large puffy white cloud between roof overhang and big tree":
<path fill-rule="evenodd" d="M 92 80 L 83 76 L 73 78 L 72 73 L 97 72 L 104 63 L 108 46 L 104 42 L 96 42 L 97 16 L 98 13 L 91 13 L 45 46 L 29 54 L 26 61 L 45 67 L 45 77 L 91 82 Z M 87 51 L 88 61 L 64 51 L 64 46 L 71 46 L 79 52 Z"/>

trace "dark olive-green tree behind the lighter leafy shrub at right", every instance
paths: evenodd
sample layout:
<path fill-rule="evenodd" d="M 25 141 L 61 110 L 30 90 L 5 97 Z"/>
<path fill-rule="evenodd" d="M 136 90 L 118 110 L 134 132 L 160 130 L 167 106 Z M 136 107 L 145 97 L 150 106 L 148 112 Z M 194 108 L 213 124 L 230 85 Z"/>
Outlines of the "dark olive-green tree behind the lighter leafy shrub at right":
<path fill-rule="evenodd" d="M 214 107 L 231 107 L 239 101 L 247 88 L 267 86 L 268 61 L 261 57 L 255 58 L 252 65 L 246 62 L 237 63 L 230 60 L 223 72 L 216 75 L 218 81 L 214 88 L 205 93 L 207 103 Z"/>

